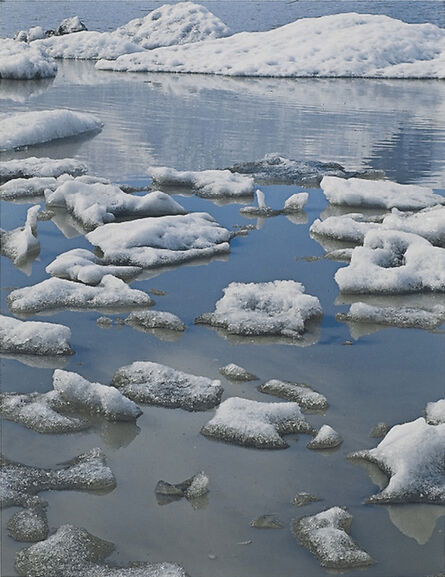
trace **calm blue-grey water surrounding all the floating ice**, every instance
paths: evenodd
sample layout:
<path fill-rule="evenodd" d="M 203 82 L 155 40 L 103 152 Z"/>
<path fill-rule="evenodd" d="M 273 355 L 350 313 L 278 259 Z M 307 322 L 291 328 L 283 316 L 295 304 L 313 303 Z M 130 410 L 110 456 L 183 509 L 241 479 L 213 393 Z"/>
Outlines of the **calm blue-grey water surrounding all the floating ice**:
<path fill-rule="evenodd" d="M 30 13 L 18 10 L 18 4 L 6 1 L 0 5 L 0 16 L 3 11 L 10 16 L 9 22 L 21 13 L 22 24 L 14 24 L 14 30 L 29 25 Z M 32 3 L 45 10 L 49 4 Z M 66 4 L 57 3 L 57 10 Z M 87 3 L 78 4 L 75 12 L 80 13 L 80 7 Z M 113 3 L 116 16 L 113 19 L 110 11 L 106 13 L 109 25 L 137 16 L 131 11 L 147 4 L 154 3 L 130 2 L 123 14 L 122 6 Z M 234 4 L 238 3 L 215 3 L 214 11 L 218 6 L 229 14 L 228 6 Z M 284 3 L 252 4 L 261 4 L 262 10 L 271 12 L 266 4 L 280 4 L 284 10 Z M 309 9 L 311 4 L 314 10 L 316 6 L 321 10 L 323 5 L 326 10 L 327 2 L 302 1 L 287 5 L 286 10 L 301 10 L 300 5 Z M 397 3 L 375 4 L 394 9 Z M 432 19 L 425 14 L 433 13 L 433 3 L 415 4 L 419 5 L 419 21 Z M 91 18 L 97 17 L 94 10 L 90 6 Z M 434 13 L 439 19 L 440 10 Z M 39 14 L 36 11 L 33 17 L 52 24 L 45 11 L 45 19 Z M 413 9 L 410 14 L 414 18 Z M 122 21 L 118 20 L 121 15 Z M 337 161 L 351 169 L 381 168 L 399 182 L 445 191 L 443 82 L 132 76 L 99 73 L 91 63 L 67 62 L 60 64 L 54 81 L 1 82 L 0 97 L 5 113 L 66 107 L 98 114 L 105 123 L 102 133 L 93 138 L 3 154 L 1 160 L 28 155 L 74 156 L 89 163 L 91 174 L 141 184 L 147 182 L 147 168 L 152 164 L 178 169 L 222 168 L 279 152 L 292 158 Z M 282 206 L 294 192 L 304 190 L 296 186 L 262 189 L 274 208 Z M 138 289 L 157 288 L 168 293 L 155 297 L 156 308 L 178 314 L 187 324 L 176 341 L 162 341 L 127 326 L 101 329 L 96 325 L 101 315 L 95 312 L 32 318 L 71 327 L 77 354 L 66 368 L 91 381 L 108 383 L 118 367 L 152 360 L 213 378 L 218 377 L 219 367 L 235 362 L 261 381 L 279 378 L 307 382 L 330 403 L 325 416 L 310 415 L 308 419 L 314 425 L 329 423 L 338 430 L 344 438 L 340 449 L 329 454 L 308 451 L 304 435 L 298 441 L 290 438 L 290 447 L 283 451 L 212 442 L 199 435 L 199 430 L 213 411 L 192 414 L 144 407 L 137 426 L 107 424 L 100 430 L 73 435 L 39 435 L 5 422 L 2 449 L 13 460 L 51 466 L 95 446 L 103 447 L 108 456 L 117 478 L 117 488 L 111 493 L 42 494 L 49 503 L 52 528 L 63 523 L 83 526 L 116 543 L 112 559 L 117 562 L 176 561 L 192 577 L 320 577 L 326 572 L 294 540 L 290 522 L 322 508 L 345 505 L 354 516 L 353 538 L 377 561 L 360 575 L 425 577 L 443 570 L 445 508 L 363 505 L 377 486 L 365 469 L 345 459 L 353 450 L 375 446 L 369 431 L 377 422 L 412 420 L 422 414 L 428 401 L 443 396 L 443 334 L 385 329 L 343 346 L 351 336 L 347 326 L 335 320 L 337 312 L 347 309 L 345 304 L 336 304 L 338 290 L 333 275 L 340 265 L 301 258 L 323 254 L 321 246 L 310 239 L 308 229 L 326 201 L 319 189 L 308 192 L 306 218 L 300 223 L 284 216 L 256 223 L 242 217 L 237 204 L 218 206 L 195 197 L 177 197 L 187 209 L 208 211 L 229 228 L 253 223 L 258 229 L 248 237 L 236 238 L 225 260 L 183 266 L 133 284 Z M 26 209 L 27 205 L 2 203 L 1 226 L 11 229 L 23 224 Z M 59 226 L 63 229 L 63 223 Z M 2 257 L 1 302 L 5 312 L 4 299 L 11 287 L 46 278 L 45 266 L 57 254 L 89 247 L 84 237 L 66 238 L 60 228 L 51 221 L 39 223 L 42 250 L 31 276 Z M 212 329 L 193 325 L 196 316 L 214 308 L 229 282 L 274 279 L 298 280 L 309 294 L 319 297 L 324 317 L 316 344 L 237 344 Z M 2 359 L 1 371 L 5 390 L 43 392 L 51 388 L 51 368 Z M 222 380 L 224 398 L 236 395 L 273 400 L 256 391 L 257 383 L 235 385 Z M 198 470 L 205 470 L 210 477 L 206 508 L 195 511 L 185 500 L 157 505 L 154 487 L 159 479 L 178 482 Z M 295 509 L 289 503 L 298 491 L 310 491 L 324 501 Z M 14 557 L 23 547 L 6 535 L 6 523 L 13 512 L 5 510 L 2 518 L 4 576 L 16 575 Z M 265 513 L 277 513 L 285 528 L 260 531 L 249 526 L 252 519 Z M 252 543 L 239 545 L 248 540 Z"/>

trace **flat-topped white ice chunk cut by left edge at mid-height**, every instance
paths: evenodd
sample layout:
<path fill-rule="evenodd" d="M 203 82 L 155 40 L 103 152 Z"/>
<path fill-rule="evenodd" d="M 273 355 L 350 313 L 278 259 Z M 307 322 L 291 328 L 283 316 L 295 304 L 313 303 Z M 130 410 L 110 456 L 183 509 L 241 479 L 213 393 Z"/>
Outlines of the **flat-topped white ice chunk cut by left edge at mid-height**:
<path fill-rule="evenodd" d="M 0 352 L 27 355 L 69 355 L 71 331 L 64 325 L 19 321 L 0 315 Z"/>

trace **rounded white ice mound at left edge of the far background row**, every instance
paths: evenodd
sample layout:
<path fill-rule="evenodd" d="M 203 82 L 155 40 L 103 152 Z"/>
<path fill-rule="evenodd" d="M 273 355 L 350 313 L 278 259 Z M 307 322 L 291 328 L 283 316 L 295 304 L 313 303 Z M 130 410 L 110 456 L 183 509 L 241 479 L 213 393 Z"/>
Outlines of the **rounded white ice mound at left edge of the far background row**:
<path fill-rule="evenodd" d="M 37 46 L 0 38 L 0 78 L 31 80 L 52 78 L 56 74 L 55 61 Z"/>

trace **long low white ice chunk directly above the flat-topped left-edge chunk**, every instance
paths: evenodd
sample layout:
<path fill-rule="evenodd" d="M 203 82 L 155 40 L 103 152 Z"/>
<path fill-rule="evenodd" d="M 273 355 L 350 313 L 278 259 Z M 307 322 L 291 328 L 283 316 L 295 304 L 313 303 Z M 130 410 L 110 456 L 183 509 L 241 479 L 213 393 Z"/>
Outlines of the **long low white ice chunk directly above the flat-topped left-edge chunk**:
<path fill-rule="evenodd" d="M 12 291 L 8 305 L 14 314 L 67 308 L 69 310 L 108 310 L 150 306 L 152 299 L 144 292 L 131 289 L 124 281 L 106 275 L 97 286 L 50 278 L 33 286 Z"/>

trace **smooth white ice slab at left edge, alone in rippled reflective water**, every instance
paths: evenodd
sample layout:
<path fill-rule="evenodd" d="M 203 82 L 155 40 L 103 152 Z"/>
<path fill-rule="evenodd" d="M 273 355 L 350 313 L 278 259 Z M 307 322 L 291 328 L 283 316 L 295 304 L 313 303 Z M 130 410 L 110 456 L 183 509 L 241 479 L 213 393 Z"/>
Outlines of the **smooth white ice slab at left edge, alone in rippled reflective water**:
<path fill-rule="evenodd" d="M 102 129 L 102 121 L 87 112 L 38 110 L 0 119 L 0 151 L 41 144 Z"/>

